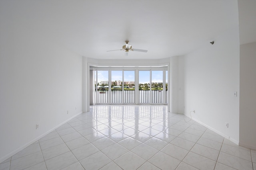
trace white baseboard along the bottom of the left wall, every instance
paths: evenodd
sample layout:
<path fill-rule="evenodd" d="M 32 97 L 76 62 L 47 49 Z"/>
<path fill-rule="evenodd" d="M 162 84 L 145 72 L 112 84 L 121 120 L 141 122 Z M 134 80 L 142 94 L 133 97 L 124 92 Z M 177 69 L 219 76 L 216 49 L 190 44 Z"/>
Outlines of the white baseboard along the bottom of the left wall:
<path fill-rule="evenodd" d="M 32 141 L 26 143 L 25 145 L 23 145 L 22 147 L 19 147 L 18 149 L 10 152 L 9 154 L 3 156 L 2 158 L 0 158 L 0 163 L 4 162 L 6 159 L 10 158 L 11 156 L 13 156 L 14 154 L 20 152 L 21 150 L 25 149 L 26 147 L 28 147 L 29 145 L 31 145 L 32 143 L 38 141 L 39 139 L 41 139 L 42 137 L 48 135 L 50 132 L 54 131 L 55 129 L 57 129 L 58 127 L 60 127 L 61 125 L 67 123 L 68 121 L 70 121 L 71 119 L 73 119 L 74 117 L 80 115 L 81 113 L 83 113 L 82 111 L 77 113 L 76 115 L 70 117 L 69 119 L 67 119 L 66 121 L 60 123 L 59 125 L 57 125 L 56 127 L 50 129 L 49 131 L 47 131 L 46 133 L 40 135 L 39 137 L 36 137 L 35 139 L 33 139 Z"/>

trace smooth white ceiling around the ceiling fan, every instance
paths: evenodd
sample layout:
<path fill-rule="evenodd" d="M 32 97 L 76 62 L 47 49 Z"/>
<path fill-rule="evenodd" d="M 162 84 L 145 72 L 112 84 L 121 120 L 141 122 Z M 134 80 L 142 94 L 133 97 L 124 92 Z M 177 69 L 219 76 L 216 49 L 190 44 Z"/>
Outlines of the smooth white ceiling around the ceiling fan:
<path fill-rule="evenodd" d="M 238 26 L 234 0 L 9 1 L 23 29 L 96 59 L 160 59 L 184 55 Z"/>

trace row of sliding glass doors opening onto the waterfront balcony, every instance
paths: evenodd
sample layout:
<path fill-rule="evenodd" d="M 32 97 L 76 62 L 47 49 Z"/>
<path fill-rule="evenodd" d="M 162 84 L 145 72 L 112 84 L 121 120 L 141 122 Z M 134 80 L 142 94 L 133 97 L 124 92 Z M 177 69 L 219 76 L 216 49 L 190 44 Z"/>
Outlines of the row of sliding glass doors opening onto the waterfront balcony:
<path fill-rule="evenodd" d="M 96 104 L 167 104 L 168 71 L 94 70 Z"/>

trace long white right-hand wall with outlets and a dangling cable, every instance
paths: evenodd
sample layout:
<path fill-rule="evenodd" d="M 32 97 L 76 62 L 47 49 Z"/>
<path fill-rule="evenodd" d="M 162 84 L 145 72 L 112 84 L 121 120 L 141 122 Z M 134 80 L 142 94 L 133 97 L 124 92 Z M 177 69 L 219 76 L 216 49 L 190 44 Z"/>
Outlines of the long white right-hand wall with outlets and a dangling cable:
<path fill-rule="evenodd" d="M 239 92 L 238 26 L 214 41 L 184 56 L 184 114 L 195 110 L 193 119 L 238 144 L 239 93 L 233 95 Z"/>

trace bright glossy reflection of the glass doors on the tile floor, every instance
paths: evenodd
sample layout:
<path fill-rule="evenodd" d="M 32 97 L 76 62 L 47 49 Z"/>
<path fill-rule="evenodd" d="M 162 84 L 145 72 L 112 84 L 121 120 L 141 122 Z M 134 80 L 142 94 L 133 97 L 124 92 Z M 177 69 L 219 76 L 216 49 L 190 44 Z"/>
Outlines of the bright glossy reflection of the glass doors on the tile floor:
<path fill-rule="evenodd" d="M 89 125 L 94 126 L 104 135 L 122 131 L 124 135 L 132 136 L 144 131 L 144 133 L 154 136 L 159 131 L 165 130 L 166 126 L 171 125 L 168 123 L 168 117 L 174 115 L 176 114 L 167 112 L 167 106 L 97 105 L 91 106 L 90 115 L 84 118 Z M 147 129 L 148 127 L 152 127 L 152 129 Z"/>

